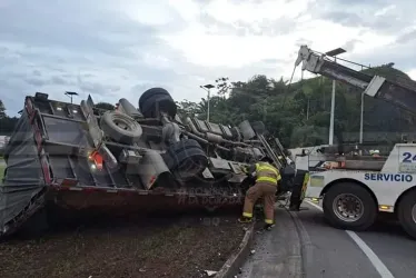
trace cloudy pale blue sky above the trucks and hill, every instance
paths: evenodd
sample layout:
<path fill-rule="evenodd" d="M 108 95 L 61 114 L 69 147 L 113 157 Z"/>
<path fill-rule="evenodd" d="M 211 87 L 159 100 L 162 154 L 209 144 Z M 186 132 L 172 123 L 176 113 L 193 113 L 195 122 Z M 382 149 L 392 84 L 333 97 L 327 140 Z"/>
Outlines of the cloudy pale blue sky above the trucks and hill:
<path fill-rule="evenodd" d="M 0 0 L 0 99 L 10 116 L 37 91 L 138 106 L 162 87 L 199 101 L 199 86 L 220 77 L 288 80 L 301 44 L 416 79 L 415 10 L 415 0 Z"/>

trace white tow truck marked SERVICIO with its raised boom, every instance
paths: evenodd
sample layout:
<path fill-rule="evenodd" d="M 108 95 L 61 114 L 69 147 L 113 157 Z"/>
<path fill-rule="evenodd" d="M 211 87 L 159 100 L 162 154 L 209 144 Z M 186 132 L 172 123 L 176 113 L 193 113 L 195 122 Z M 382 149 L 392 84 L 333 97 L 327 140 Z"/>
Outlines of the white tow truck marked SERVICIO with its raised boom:
<path fill-rule="evenodd" d="M 341 81 L 369 97 L 416 113 L 413 80 L 393 81 L 356 71 L 307 46 L 300 47 L 295 67 L 300 63 L 301 70 Z M 307 172 L 305 198 L 321 202 L 324 216 L 331 226 L 366 230 L 380 212 L 387 212 L 394 214 L 404 230 L 416 238 L 416 143 L 396 143 L 388 156 L 326 155 L 324 151 L 296 156 L 295 160 L 297 171 Z"/>

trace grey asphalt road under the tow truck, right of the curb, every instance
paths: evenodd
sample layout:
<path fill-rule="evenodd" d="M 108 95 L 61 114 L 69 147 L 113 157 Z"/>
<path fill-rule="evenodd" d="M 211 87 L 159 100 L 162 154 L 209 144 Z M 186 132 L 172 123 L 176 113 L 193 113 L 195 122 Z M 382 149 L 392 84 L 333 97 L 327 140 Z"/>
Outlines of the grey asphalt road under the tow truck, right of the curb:
<path fill-rule="evenodd" d="M 416 240 L 397 224 L 378 221 L 365 232 L 338 230 L 326 224 L 317 206 L 303 206 L 307 210 L 300 212 L 277 209 L 279 222 L 256 238 L 258 250 L 240 277 L 416 277 Z M 290 247 L 295 241 L 299 251 Z M 268 266 L 273 264 L 280 267 Z M 273 269 L 278 276 L 270 275 Z"/>

